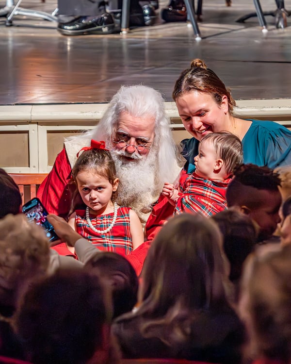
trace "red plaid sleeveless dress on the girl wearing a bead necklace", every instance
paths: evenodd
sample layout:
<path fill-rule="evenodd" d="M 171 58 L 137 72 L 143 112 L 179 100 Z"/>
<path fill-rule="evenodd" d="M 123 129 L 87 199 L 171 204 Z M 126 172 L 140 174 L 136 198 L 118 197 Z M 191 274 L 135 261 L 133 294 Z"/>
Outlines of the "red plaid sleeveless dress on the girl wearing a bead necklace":
<path fill-rule="evenodd" d="M 115 224 L 106 234 L 94 232 L 87 223 L 86 211 L 76 210 L 76 231 L 100 250 L 128 255 L 132 251 L 129 210 L 130 208 L 125 206 L 118 208 Z M 91 215 L 90 217 L 96 229 L 105 230 L 112 222 L 113 213 L 108 215 Z"/>

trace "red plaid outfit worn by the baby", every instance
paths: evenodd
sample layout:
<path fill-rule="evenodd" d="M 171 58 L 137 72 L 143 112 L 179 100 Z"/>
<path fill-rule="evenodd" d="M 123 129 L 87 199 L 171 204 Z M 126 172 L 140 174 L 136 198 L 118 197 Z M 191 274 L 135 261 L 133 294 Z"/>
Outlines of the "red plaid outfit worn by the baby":
<path fill-rule="evenodd" d="M 214 181 L 194 173 L 182 175 L 179 189 L 182 193 L 176 202 L 174 214 L 199 213 L 205 216 L 227 209 L 226 188 L 231 178 Z"/>

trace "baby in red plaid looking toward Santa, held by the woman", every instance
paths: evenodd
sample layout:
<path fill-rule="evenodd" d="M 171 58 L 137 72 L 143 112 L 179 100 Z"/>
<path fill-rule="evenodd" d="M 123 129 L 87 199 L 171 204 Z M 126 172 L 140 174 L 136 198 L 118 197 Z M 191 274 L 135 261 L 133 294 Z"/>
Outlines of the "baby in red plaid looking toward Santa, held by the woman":
<path fill-rule="evenodd" d="M 174 214 L 214 215 L 227 208 L 226 188 L 235 165 L 242 163 L 242 143 L 230 132 L 203 137 L 194 158 L 195 172 L 182 174 L 179 190 L 165 183 L 163 195 L 175 206 Z"/>

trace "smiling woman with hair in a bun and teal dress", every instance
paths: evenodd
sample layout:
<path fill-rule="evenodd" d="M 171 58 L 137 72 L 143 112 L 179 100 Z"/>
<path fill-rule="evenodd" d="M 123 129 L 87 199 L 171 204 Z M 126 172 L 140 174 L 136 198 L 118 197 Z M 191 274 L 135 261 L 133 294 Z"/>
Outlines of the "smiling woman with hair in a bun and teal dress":
<path fill-rule="evenodd" d="M 291 165 L 291 131 L 273 121 L 244 120 L 222 80 L 200 59 L 180 74 L 173 91 L 185 129 L 193 135 L 181 142 L 185 169 L 195 169 L 199 141 L 210 132 L 232 132 L 242 141 L 243 163 L 275 168 Z"/>

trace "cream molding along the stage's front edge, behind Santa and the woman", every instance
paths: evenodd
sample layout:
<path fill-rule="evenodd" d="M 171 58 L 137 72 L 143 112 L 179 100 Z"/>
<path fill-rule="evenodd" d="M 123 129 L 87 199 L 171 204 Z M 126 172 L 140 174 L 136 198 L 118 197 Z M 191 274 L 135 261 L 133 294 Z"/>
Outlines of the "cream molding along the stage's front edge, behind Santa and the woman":
<path fill-rule="evenodd" d="M 107 106 L 107 103 L 0 105 L 0 125 L 72 121 L 91 123 L 100 119 Z M 175 102 L 165 102 L 165 110 L 173 121 L 173 128 L 180 128 L 182 124 Z M 235 112 L 242 118 L 273 120 L 291 127 L 291 99 L 237 100 Z"/>

